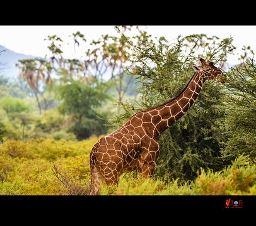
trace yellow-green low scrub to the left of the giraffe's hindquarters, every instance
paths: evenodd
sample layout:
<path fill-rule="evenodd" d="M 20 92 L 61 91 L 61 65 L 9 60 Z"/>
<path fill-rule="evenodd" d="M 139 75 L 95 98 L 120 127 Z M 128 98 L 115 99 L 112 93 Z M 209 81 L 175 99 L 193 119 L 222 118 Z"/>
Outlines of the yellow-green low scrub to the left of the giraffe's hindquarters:
<path fill-rule="evenodd" d="M 76 186 L 88 186 L 89 155 L 97 140 L 7 139 L 0 153 L 0 195 L 69 195 Z M 54 166 L 66 174 L 68 187 L 56 178 Z"/>

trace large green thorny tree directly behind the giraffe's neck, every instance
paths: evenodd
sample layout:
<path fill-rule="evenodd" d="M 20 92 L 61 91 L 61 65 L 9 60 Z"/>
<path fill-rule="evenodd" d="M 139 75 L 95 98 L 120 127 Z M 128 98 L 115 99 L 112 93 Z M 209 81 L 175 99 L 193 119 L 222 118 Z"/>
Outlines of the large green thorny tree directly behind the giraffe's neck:
<path fill-rule="evenodd" d="M 123 103 L 124 113 L 112 117 L 110 122 L 122 126 L 138 110 L 161 104 L 177 95 L 192 77 L 192 65 L 198 64 L 199 58 L 194 49 L 197 41 L 201 41 L 198 37 L 179 36 L 176 44 L 169 45 L 163 37 L 153 41 L 144 35 L 143 45 L 133 45 L 132 67 L 128 70 L 131 75 L 137 75 L 137 82 L 141 84 L 137 89 L 141 100 Z M 215 45 L 203 45 L 202 48 L 206 48 L 203 56 L 207 62 L 211 60 L 215 65 L 226 62 L 226 56 L 234 50 L 231 39 L 218 41 Z M 189 112 L 163 132 L 158 139 L 161 151 L 154 176 L 192 180 L 201 167 L 222 168 L 219 131 L 216 131 L 214 122 L 224 116 L 223 111 L 216 110 L 223 104 L 223 92 L 221 84 L 206 82 Z"/>

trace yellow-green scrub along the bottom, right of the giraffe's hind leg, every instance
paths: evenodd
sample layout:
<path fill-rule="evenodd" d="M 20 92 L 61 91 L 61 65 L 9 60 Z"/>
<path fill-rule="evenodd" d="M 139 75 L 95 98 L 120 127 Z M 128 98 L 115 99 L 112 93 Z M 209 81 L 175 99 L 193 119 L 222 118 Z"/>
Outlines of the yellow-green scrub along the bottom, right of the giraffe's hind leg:
<path fill-rule="evenodd" d="M 101 195 L 255 195 L 256 167 L 248 164 L 245 156 L 240 156 L 231 166 L 222 171 L 198 172 L 194 181 L 178 185 L 178 179 L 144 180 L 141 176 L 120 176 L 119 186 L 107 188 L 103 183 Z"/>

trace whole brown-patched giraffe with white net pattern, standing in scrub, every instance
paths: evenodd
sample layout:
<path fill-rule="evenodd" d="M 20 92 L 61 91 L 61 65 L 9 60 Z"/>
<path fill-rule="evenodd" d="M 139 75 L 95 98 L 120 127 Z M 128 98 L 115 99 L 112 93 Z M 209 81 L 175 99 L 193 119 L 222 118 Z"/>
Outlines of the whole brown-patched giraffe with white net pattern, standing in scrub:
<path fill-rule="evenodd" d="M 172 126 L 194 104 L 206 80 L 224 83 L 226 77 L 212 62 L 200 58 L 201 66 L 192 68 L 194 75 L 175 97 L 167 102 L 141 110 L 124 126 L 99 139 L 90 153 L 90 195 L 98 195 L 100 182 L 118 185 L 119 176 L 137 170 L 143 178 L 153 176 L 160 153 L 158 137 Z"/>

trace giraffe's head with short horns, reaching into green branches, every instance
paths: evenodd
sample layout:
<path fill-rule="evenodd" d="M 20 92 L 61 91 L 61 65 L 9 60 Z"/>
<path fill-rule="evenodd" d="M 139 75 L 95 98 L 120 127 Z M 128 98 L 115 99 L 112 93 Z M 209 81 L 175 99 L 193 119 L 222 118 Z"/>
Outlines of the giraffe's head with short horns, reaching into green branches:
<path fill-rule="evenodd" d="M 221 70 L 216 68 L 212 62 L 206 63 L 206 61 L 200 58 L 201 66 L 192 66 L 195 72 L 201 73 L 203 80 L 215 80 L 224 83 L 223 77 L 226 77 Z"/>

